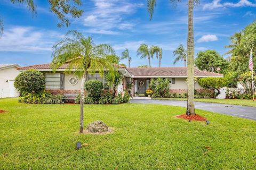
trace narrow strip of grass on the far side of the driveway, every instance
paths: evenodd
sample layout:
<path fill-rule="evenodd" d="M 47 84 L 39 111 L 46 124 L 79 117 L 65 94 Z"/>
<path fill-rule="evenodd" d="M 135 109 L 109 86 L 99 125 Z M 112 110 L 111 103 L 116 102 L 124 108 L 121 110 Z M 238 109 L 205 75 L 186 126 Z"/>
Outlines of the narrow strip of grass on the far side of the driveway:
<path fill-rule="evenodd" d="M 154 98 L 158 100 L 187 100 L 187 98 Z M 256 100 L 244 99 L 195 99 L 195 101 L 256 107 Z"/>

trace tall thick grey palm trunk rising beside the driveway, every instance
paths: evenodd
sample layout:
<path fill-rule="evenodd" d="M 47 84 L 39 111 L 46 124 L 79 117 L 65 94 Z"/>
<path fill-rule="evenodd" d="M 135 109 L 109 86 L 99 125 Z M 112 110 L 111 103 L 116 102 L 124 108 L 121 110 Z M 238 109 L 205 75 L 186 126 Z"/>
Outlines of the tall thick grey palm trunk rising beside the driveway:
<path fill-rule="evenodd" d="M 195 115 L 195 103 L 194 103 L 194 30 L 193 30 L 193 7 L 194 0 L 188 0 L 188 104 L 187 115 Z"/>

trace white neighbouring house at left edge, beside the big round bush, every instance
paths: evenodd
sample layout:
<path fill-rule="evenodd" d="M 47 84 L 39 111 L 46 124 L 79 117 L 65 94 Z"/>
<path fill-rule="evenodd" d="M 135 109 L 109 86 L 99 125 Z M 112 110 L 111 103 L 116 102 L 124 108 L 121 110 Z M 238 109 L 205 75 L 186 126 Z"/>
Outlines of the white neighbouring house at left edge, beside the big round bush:
<path fill-rule="evenodd" d="M 18 67 L 18 64 L 0 64 L 0 98 L 20 96 L 13 85 L 15 77 L 20 73 Z"/>

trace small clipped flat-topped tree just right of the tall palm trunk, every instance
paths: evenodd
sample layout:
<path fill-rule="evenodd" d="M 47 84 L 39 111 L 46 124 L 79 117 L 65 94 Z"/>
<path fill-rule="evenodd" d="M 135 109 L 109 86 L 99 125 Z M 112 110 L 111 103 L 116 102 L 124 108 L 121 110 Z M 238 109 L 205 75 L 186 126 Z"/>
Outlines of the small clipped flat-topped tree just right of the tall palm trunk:
<path fill-rule="evenodd" d="M 227 86 L 227 80 L 225 78 L 202 78 L 198 80 L 199 86 L 204 89 L 213 89 L 214 98 L 220 94 L 220 88 Z M 217 92 L 216 92 L 217 91 Z"/>

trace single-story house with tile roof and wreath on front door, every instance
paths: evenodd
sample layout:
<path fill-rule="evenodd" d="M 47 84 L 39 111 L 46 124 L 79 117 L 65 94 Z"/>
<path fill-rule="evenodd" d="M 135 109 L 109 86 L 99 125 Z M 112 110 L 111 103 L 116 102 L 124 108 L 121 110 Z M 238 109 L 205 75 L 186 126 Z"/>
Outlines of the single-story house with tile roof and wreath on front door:
<path fill-rule="evenodd" d="M 123 82 L 119 84 L 117 91 L 127 89 L 127 83 L 132 83 L 131 94 L 132 96 L 138 94 L 145 94 L 149 88 L 151 78 L 168 78 L 170 79 L 170 92 L 184 93 L 187 92 L 187 67 L 151 67 L 151 68 L 127 68 L 122 65 L 116 66 L 118 71 L 123 74 Z M 45 75 L 46 90 L 53 94 L 78 94 L 80 89 L 81 80 L 78 79 L 73 73 L 65 73 L 67 65 L 64 64 L 52 73 L 51 64 L 31 65 L 19 67 L 18 70 L 25 71 L 35 69 L 41 71 Z M 201 71 L 195 68 L 195 77 L 223 77 L 223 74 Z M 106 89 L 105 77 L 100 77 L 99 73 L 94 75 L 87 75 L 87 80 L 102 81 Z M 195 89 L 200 91 L 204 90 L 195 82 Z"/>

